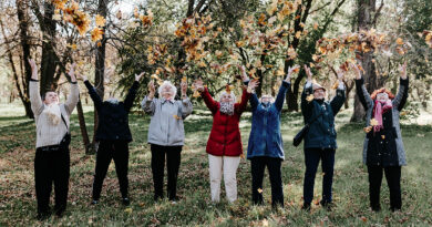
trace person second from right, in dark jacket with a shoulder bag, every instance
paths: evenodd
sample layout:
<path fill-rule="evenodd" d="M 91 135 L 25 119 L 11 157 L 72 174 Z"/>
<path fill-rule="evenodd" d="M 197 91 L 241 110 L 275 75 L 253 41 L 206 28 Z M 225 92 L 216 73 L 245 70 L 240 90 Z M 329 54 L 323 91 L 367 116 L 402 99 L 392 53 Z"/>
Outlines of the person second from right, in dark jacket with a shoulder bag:
<path fill-rule="evenodd" d="M 304 206 L 302 209 L 309 210 L 313 198 L 313 183 L 317 174 L 319 161 L 321 159 L 323 179 L 322 179 L 322 199 L 320 204 L 331 209 L 332 195 L 331 187 L 333 183 L 335 153 L 337 148 L 335 116 L 344 102 L 343 71 L 338 71 L 339 85 L 336 90 L 336 96 L 327 102 L 326 89 L 318 83 L 312 83 L 312 73 L 305 65 L 308 75 L 304 92 L 301 93 L 301 113 L 305 124 L 309 124 L 309 130 L 305 135 L 305 182 L 304 182 Z"/>

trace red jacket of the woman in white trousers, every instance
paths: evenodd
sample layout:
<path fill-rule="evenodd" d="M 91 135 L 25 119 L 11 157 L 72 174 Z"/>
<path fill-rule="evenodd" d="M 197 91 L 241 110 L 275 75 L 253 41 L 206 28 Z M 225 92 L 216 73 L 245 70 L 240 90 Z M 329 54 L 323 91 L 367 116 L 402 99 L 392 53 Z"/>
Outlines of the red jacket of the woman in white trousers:
<path fill-rule="evenodd" d="M 200 94 L 213 114 L 213 127 L 207 142 L 207 153 L 215 156 L 239 156 L 243 154 L 238 123 L 250 94 L 243 90 L 241 102 L 234 104 L 234 114 L 220 113 L 220 103 L 213 100 L 207 87 Z"/>

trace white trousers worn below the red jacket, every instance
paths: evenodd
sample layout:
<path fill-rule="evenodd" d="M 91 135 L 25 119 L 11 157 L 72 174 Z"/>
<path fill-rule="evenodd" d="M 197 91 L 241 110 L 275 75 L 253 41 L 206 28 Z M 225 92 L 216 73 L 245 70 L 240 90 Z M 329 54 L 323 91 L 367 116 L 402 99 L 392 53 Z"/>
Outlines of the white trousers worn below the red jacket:
<path fill-rule="evenodd" d="M 237 200 L 237 167 L 240 163 L 239 156 L 214 156 L 208 154 L 210 172 L 212 202 L 220 200 L 220 180 L 224 173 L 226 197 L 229 203 Z"/>

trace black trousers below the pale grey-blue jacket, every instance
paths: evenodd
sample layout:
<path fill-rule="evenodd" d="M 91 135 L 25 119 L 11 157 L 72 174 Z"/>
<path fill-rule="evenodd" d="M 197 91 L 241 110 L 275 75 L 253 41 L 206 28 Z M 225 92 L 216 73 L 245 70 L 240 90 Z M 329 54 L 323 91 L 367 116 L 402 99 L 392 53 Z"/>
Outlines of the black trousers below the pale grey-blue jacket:
<path fill-rule="evenodd" d="M 163 198 L 164 167 L 166 156 L 166 168 L 168 173 L 167 195 L 169 200 L 176 199 L 177 177 L 181 164 L 182 146 L 160 146 L 151 144 L 152 149 L 152 173 L 154 184 L 154 199 Z"/>

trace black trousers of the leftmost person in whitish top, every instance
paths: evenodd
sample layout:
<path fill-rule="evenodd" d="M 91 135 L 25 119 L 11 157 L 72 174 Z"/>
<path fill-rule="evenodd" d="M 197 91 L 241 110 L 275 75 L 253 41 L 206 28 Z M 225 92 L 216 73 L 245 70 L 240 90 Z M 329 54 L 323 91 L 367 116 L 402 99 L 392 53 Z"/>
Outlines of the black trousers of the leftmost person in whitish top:
<path fill-rule="evenodd" d="M 38 200 L 38 216 L 50 214 L 50 196 L 54 183 L 56 215 L 66 209 L 70 176 L 69 148 L 45 146 L 37 148 L 34 157 L 34 182 Z"/>

